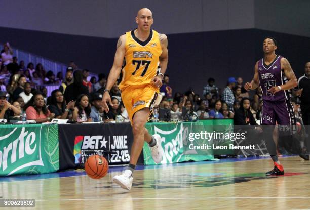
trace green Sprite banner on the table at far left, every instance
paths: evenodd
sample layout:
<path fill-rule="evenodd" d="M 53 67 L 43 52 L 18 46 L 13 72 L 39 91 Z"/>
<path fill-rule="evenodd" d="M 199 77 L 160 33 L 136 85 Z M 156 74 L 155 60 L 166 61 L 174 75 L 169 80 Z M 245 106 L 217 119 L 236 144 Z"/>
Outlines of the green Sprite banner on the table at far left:
<path fill-rule="evenodd" d="M 0 176 L 59 169 L 57 125 L 1 125 Z"/>

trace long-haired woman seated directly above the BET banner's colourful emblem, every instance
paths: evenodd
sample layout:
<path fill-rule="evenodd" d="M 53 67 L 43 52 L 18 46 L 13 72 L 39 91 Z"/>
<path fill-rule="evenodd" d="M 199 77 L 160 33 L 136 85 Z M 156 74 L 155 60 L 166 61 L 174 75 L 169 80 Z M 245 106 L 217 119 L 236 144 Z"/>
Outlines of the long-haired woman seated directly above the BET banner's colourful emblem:
<path fill-rule="evenodd" d="M 72 119 L 78 122 L 92 122 L 90 118 L 91 106 L 87 94 L 80 94 L 76 99 Z"/>

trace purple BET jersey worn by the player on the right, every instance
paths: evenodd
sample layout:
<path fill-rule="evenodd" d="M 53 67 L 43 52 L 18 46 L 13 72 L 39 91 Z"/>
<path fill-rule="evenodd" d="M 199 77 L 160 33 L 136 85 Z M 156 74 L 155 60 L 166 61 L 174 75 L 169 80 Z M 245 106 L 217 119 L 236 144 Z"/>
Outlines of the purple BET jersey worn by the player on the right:
<path fill-rule="evenodd" d="M 263 58 L 258 61 L 259 84 L 264 101 L 284 101 L 290 99 L 289 91 L 279 91 L 276 94 L 268 92 L 271 87 L 281 86 L 288 80 L 281 68 L 281 58 L 283 57 L 277 55 L 275 60 L 269 65 L 265 64 Z"/>

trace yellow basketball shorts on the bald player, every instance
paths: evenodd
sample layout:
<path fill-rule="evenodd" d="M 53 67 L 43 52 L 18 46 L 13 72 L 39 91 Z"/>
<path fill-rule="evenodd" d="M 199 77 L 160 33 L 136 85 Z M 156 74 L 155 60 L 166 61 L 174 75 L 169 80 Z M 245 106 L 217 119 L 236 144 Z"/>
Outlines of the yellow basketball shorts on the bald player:
<path fill-rule="evenodd" d="M 122 101 L 128 112 L 130 123 L 134 114 L 147 107 L 152 112 L 155 105 L 157 96 L 159 94 L 159 89 L 153 87 L 152 85 L 144 85 L 141 87 L 127 87 L 122 91 Z"/>

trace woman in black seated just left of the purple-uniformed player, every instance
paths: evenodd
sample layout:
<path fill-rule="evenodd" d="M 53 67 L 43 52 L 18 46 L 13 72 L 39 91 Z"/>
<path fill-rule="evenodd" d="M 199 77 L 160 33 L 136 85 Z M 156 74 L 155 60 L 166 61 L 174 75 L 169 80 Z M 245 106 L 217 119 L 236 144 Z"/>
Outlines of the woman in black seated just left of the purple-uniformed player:
<path fill-rule="evenodd" d="M 236 125 L 257 125 L 255 118 L 250 110 L 251 104 L 249 98 L 243 98 L 240 102 L 240 108 L 234 116 L 234 124 Z"/>

